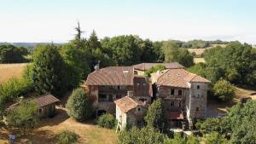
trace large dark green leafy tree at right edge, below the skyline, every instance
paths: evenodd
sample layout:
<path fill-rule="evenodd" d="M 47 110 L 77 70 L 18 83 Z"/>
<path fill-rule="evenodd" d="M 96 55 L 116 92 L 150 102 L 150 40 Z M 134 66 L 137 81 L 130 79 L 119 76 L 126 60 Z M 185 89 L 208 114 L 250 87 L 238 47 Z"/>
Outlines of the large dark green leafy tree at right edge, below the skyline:
<path fill-rule="evenodd" d="M 256 50 L 247 43 L 229 43 L 224 49 L 216 47 L 204 53 L 207 67 L 215 69 L 218 78 L 232 84 L 253 85 L 256 83 Z"/>

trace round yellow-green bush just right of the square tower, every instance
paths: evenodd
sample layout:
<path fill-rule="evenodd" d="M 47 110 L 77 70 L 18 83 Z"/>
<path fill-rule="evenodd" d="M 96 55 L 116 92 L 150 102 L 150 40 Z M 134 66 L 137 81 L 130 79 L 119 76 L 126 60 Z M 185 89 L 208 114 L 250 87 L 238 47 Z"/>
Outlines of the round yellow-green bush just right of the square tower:
<path fill-rule="evenodd" d="M 218 96 L 218 101 L 227 102 L 231 101 L 235 95 L 235 89 L 230 82 L 220 79 L 213 86 L 214 95 Z"/>

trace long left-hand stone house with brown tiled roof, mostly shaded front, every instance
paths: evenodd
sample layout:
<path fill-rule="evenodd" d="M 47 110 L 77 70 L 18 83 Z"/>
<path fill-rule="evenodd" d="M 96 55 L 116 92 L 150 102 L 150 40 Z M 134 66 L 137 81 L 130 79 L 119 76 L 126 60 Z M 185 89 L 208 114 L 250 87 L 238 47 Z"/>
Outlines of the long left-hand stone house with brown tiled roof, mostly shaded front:
<path fill-rule="evenodd" d="M 81 85 L 89 95 L 96 110 L 96 116 L 102 113 L 115 113 L 113 101 L 134 91 L 134 97 L 141 101 L 151 101 L 152 87 L 143 76 L 134 74 L 132 66 L 108 66 L 96 69 L 88 75 Z"/>

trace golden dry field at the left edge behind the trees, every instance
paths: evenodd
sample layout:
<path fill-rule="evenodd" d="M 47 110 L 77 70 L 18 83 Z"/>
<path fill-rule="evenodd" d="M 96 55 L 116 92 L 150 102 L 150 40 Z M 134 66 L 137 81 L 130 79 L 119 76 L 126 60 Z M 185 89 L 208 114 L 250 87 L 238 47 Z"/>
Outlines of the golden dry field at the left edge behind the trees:
<path fill-rule="evenodd" d="M 0 64 L 0 84 L 9 78 L 20 78 L 27 63 L 21 64 Z"/>

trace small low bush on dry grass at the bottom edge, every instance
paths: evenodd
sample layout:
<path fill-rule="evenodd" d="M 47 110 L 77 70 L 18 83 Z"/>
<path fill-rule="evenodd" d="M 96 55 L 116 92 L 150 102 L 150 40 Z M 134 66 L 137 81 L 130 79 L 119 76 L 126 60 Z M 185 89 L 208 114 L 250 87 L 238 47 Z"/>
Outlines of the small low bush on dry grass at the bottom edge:
<path fill-rule="evenodd" d="M 73 131 L 64 130 L 58 135 L 57 144 L 73 144 L 79 140 L 79 135 Z"/>

